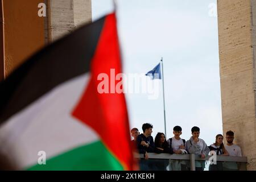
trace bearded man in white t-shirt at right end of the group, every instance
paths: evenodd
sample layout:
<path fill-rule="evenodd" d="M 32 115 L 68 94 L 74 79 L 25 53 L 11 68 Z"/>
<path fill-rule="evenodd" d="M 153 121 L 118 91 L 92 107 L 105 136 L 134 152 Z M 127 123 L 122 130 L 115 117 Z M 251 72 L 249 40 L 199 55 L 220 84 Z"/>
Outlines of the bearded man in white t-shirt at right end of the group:
<path fill-rule="evenodd" d="M 229 152 L 229 156 L 242 156 L 241 147 L 233 143 L 234 140 L 234 132 L 227 131 L 226 132 L 226 145 L 225 149 Z M 225 171 L 237 171 L 238 165 L 236 162 L 225 162 L 223 164 L 223 170 Z"/>

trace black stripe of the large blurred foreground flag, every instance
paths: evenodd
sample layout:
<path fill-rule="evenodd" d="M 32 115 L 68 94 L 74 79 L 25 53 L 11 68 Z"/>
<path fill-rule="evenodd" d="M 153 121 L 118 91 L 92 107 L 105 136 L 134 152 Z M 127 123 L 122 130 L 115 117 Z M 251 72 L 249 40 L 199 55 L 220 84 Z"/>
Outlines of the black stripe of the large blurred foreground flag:
<path fill-rule="evenodd" d="M 0 124 L 55 86 L 89 72 L 104 21 L 105 17 L 42 49 L 2 81 Z"/>

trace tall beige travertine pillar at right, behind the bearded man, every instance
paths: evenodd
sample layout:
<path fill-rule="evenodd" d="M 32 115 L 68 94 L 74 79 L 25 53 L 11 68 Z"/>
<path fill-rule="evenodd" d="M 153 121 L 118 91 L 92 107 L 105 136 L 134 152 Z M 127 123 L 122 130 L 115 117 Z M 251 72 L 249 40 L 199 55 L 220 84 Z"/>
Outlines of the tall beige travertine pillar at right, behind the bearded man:
<path fill-rule="evenodd" d="M 234 131 L 247 169 L 256 170 L 256 2 L 217 3 L 223 131 Z"/>

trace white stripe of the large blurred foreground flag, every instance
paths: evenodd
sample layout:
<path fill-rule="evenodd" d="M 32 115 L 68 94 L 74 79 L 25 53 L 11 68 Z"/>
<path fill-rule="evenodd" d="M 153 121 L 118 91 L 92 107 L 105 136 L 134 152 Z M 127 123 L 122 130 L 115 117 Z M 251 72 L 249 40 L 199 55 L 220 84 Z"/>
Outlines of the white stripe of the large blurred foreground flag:
<path fill-rule="evenodd" d="M 23 168 L 36 164 L 39 151 L 50 158 L 98 140 L 89 126 L 71 115 L 89 78 L 87 73 L 64 82 L 11 117 L 0 128 L 0 151 Z"/>

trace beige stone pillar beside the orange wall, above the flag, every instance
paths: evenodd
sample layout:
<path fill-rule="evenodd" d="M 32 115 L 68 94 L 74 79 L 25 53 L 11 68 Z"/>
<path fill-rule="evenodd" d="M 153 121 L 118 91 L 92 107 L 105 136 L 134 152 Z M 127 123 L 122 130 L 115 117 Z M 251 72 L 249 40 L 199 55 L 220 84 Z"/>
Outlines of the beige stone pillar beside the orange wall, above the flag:
<path fill-rule="evenodd" d="M 83 23 L 92 22 L 91 0 L 48 0 L 46 39 L 53 42 Z"/>

